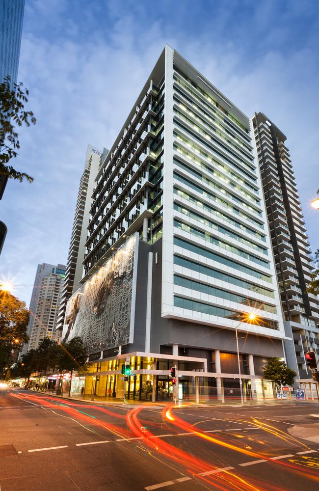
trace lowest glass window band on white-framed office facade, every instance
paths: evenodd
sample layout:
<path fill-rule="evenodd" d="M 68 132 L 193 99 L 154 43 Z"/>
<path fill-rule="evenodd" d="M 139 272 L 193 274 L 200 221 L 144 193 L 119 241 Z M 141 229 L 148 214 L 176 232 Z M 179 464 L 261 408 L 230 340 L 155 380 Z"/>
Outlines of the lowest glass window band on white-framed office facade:
<path fill-rule="evenodd" d="M 174 307 L 180 307 L 202 314 L 209 314 L 215 317 L 225 317 L 226 319 L 238 320 L 241 312 L 236 310 L 228 310 L 226 308 L 217 307 L 209 303 L 200 302 L 198 300 L 190 300 L 178 295 L 174 296 Z M 254 325 L 252 325 L 254 326 Z M 257 326 L 257 325 L 256 325 Z M 259 318 L 258 327 L 268 327 L 269 329 L 278 330 L 278 322 L 270 319 Z"/>

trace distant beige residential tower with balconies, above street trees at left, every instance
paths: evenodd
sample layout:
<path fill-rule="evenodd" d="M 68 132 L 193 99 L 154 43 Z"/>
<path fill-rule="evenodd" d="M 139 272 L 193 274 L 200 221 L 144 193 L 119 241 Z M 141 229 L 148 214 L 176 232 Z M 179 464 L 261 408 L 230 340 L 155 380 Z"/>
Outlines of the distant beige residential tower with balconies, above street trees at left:
<path fill-rule="evenodd" d="M 56 309 L 58 309 L 60 301 L 60 293 L 56 292 L 56 289 L 59 284 L 61 284 L 62 287 L 64 275 L 65 266 L 63 264 L 57 264 L 56 266 L 48 263 L 38 264 L 29 306 L 30 320 L 27 326 L 29 342 L 23 347 L 21 351 L 22 355 L 24 355 L 29 349 L 34 348 L 35 345 L 38 345 L 40 334 L 42 336 L 42 333 L 44 332 L 43 330 L 41 331 L 41 329 L 44 329 L 44 327 L 47 327 L 49 329 L 49 322 L 47 323 L 47 326 L 44 325 L 39 327 L 43 317 L 50 318 L 51 329 L 53 313 L 55 314 L 55 311 L 57 311 Z M 56 280 L 54 279 L 55 276 L 57 277 Z M 57 296 L 56 293 L 58 293 Z M 50 311 L 48 316 L 44 315 L 45 313 L 47 314 L 47 309 L 49 309 Z M 46 320 L 47 319 L 45 319 L 45 321 Z M 57 319 L 55 320 L 54 317 L 54 329 L 56 328 L 56 321 Z M 50 331 L 50 337 L 52 336 L 52 333 Z M 37 334 L 39 334 L 39 336 L 37 336 Z"/>

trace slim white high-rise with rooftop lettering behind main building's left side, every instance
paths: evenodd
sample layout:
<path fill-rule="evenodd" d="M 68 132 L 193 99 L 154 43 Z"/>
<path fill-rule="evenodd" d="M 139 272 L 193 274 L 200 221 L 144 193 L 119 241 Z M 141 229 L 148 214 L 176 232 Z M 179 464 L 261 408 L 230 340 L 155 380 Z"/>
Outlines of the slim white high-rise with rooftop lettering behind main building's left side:
<path fill-rule="evenodd" d="M 107 150 L 104 149 L 104 152 L 107 153 Z M 92 145 L 87 146 L 84 171 L 80 179 L 77 205 L 73 220 L 62 298 L 58 313 L 57 329 L 59 330 L 62 330 L 63 328 L 67 301 L 71 295 L 79 289 L 80 280 L 83 276 L 85 242 L 87 239 L 87 227 L 92 205 L 91 196 L 101 157 L 102 152 L 100 152 L 100 150 L 92 147 Z"/>

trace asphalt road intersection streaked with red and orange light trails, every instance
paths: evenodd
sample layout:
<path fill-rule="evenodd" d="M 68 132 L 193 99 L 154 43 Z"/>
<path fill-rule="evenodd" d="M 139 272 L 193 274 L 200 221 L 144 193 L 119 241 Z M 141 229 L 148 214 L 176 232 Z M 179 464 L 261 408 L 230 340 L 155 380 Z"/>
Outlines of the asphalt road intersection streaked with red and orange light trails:
<path fill-rule="evenodd" d="M 0 389 L 0 491 L 317 491 L 319 443 L 289 433 L 315 428 L 316 413 L 306 402 L 106 406 Z"/>

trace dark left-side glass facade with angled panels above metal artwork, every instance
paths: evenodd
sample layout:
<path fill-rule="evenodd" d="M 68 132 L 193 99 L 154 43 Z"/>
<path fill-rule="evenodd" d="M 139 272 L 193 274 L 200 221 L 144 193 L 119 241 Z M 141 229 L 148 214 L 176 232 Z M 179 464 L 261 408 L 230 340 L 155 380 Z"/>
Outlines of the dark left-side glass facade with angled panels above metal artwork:
<path fill-rule="evenodd" d="M 102 162 L 93 192 L 84 272 L 133 231 L 142 234 L 138 218 L 149 212 L 148 241 L 162 235 L 162 169 L 164 146 L 164 79 L 146 91 L 120 141 Z"/>

